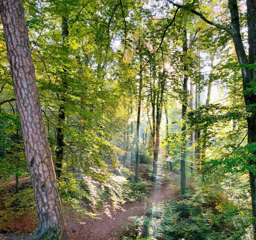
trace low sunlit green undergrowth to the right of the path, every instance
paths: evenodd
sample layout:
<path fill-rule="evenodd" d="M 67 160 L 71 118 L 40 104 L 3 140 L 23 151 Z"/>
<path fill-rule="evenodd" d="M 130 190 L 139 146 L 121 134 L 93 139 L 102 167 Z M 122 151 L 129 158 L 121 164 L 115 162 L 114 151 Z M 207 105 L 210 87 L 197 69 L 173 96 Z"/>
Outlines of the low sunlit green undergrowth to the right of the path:
<path fill-rule="evenodd" d="M 188 218 L 181 217 L 183 209 L 189 213 Z M 143 217 L 130 218 L 123 225 L 123 234 L 130 239 L 242 240 L 248 227 L 248 209 L 230 202 L 218 189 L 202 187 L 190 191 L 183 202 L 160 202 Z"/>

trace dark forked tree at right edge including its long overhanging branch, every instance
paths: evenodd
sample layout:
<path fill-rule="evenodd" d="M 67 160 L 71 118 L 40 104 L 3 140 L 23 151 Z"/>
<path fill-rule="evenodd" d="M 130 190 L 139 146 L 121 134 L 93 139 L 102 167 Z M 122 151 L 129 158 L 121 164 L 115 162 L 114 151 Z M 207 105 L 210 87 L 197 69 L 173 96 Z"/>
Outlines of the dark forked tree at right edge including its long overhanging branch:
<path fill-rule="evenodd" d="M 256 0 L 246 0 L 247 6 L 247 30 L 248 30 L 248 45 L 249 45 L 249 58 L 247 57 L 243 38 L 241 35 L 241 26 L 239 19 L 239 10 L 237 0 L 228 0 L 228 8 L 230 12 L 230 26 L 224 26 L 208 20 L 203 13 L 200 13 L 194 9 L 193 4 L 191 6 L 179 5 L 172 0 L 168 0 L 173 6 L 178 8 L 185 8 L 188 11 L 198 15 L 207 24 L 224 30 L 231 35 L 235 51 L 237 54 L 238 63 L 241 65 L 242 79 L 243 79 L 243 97 L 245 105 L 247 106 L 247 129 L 248 129 L 248 143 L 256 143 L 256 111 L 254 106 L 256 104 L 254 80 L 256 79 L 256 70 L 249 65 L 256 63 Z M 252 225 L 254 228 L 254 239 L 256 240 L 256 174 L 253 171 L 255 162 L 250 160 L 250 190 L 252 201 Z"/>

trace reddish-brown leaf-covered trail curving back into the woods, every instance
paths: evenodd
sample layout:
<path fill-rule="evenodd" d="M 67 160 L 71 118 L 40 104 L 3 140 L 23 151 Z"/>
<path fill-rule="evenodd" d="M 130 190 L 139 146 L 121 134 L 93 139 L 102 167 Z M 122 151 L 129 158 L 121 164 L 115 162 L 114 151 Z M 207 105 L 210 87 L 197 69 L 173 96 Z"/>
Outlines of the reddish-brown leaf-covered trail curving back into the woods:
<path fill-rule="evenodd" d="M 140 164 L 140 171 L 143 171 L 144 164 Z M 79 220 L 66 217 L 66 230 L 70 240 L 119 240 L 122 233 L 122 224 L 131 216 L 142 216 L 153 204 L 169 199 L 173 195 L 170 188 L 173 180 L 179 175 L 176 172 L 166 169 L 159 169 L 161 174 L 168 174 L 170 180 L 164 181 L 162 177 L 152 186 L 150 196 L 141 202 L 129 202 L 122 206 L 122 210 L 110 212 L 111 216 L 101 214 L 101 219 L 91 219 L 90 216 L 84 218 L 84 224 Z M 75 216 L 75 215 L 73 215 Z"/>

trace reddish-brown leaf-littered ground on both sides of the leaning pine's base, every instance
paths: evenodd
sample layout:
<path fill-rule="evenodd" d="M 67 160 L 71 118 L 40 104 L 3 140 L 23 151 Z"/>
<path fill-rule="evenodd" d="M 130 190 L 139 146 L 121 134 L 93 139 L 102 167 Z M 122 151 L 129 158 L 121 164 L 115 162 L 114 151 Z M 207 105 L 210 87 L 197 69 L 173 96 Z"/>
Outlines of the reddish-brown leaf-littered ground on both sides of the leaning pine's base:
<path fill-rule="evenodd" d="M 140 164 L 140 172 L 145 170 L 145 165 Z M 144 174 L 143 174 L 144 175 Z M 147 176 L 143 176 L 146 178 Z M 168 177 L 163 177 L 167 175 Z M 123 232 L 123 224 L 128 221 L 131 216 L 142 216 L 148 208 L 155 204 L 173 197 L 173 189 L 171 186 L 177 182 L 179 174 L 166 169 L 159 169 L 158 180 L 151 186 L 149 196 L 141 202 L 127 202 L 122 205 L 122 209 L 115 211 L 109 209 L 106 214 L 103 211 L 97 215 L 97 219 L 92 219 L 86 216 L 82 220 L 77 218 L 73 213 L 64 215 L 65 226 L 70 240 L 120 240 Z M 167 179 L 167 180 L 166 180 Z M 24 217 L 24 216 L 23 216 Z M 26 216 L 26 224 L 30 225 L 31 230 L 33 225 L 28 222 L 29 217 Z M 98 219 L 99 218 L 99 219 Z M 81 224 L 81 221 L 83 222 Z M 22 225 L 20 228 L 23 228 Z M 17 229 L 19 234 L 0 234 L 0 240 L 32 240 L 32 234 L 27 234 L 28 229 L 22 231 Z M 23 234 L 24 233 L 24 234 Z"/>

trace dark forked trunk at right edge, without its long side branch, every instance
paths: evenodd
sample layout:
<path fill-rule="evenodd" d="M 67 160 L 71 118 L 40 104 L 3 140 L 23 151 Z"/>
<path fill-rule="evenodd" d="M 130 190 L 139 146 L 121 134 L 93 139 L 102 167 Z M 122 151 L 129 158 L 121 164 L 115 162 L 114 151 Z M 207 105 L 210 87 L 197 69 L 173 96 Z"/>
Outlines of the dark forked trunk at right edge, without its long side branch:
<path fill-rule="evenodd" d="M 247 0 L 247 24 L 248 24 L 248 44 L 249 44 L 249 61 L 243 46 L 243 39 L 240 31 L 239 12 L 237 6 L 237 0 L 228 0 L 229 10 L 231 15 L 231 29 L 232 38 L 237 53 L 237 59 L 239 64 L 253 64 L 256 63 L 256 0 Z M 256 95 L 253 91 L 248 91 L 251 88 L 250 82 L 256 78 L 256 71 L 243 67 L 243 91 L 245 105 L 248 107 L 250 117 L 247 118 L 248 126 L 248 143 L 256 143 L 256 114 L 253 107 L 249 107 L 251 104 L 256 104 Z M 250 165 L 254 165 L 253 160 L 250 161 Z M 254 240 L 256 240 L 256 175 L 249 171 L 250 176 L 250 190 L 252 200 L 252 215 L 253 215 L 253 229 Z"/>

